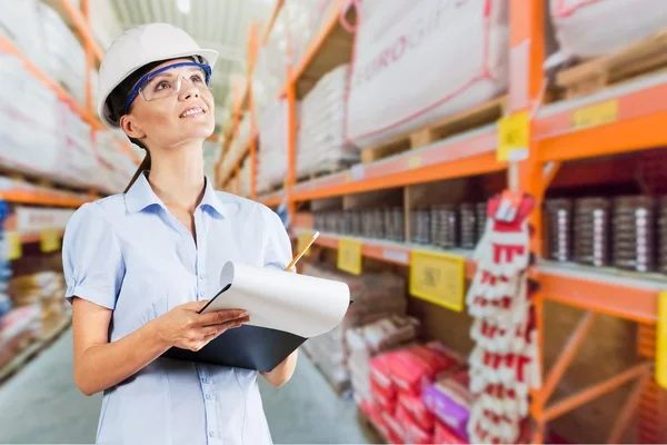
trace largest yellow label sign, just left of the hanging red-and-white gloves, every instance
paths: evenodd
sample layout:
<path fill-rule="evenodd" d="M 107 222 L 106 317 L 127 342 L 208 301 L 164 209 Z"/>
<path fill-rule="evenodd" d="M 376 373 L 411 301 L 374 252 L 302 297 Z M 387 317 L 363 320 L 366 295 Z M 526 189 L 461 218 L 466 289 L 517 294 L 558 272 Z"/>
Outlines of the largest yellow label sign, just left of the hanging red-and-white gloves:
<path fill-rule="evenodd" d="M 415 250 L 410 256 L 410 294 L 448 309 L 464 310 L 466 260 L 448 254 Z"/>

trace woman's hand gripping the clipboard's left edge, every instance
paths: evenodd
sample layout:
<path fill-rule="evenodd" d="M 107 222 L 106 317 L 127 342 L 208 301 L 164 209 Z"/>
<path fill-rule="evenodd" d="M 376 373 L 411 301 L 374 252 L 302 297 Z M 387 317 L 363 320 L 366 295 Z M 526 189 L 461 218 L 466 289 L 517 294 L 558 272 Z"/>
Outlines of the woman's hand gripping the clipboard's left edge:
<path fill-rule="evenodd" d="M 242 309 L 199 314 L 207 303 L 190 301 L 175 306 L 156 318 L 160 340 L 170 347 L 197 352 L 226 330 L 250 320 Z"/>

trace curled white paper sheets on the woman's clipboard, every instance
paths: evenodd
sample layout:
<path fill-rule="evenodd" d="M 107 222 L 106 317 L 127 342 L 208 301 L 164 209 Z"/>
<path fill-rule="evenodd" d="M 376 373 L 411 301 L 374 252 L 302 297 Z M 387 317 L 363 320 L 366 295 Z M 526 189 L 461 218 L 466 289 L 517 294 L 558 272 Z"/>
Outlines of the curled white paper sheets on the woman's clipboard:
<path fill-rule="evenodd" d="M 228 261 L 220 273 L 220 289 L 205 313 L 243 309 L 248 325 L 310 338 L 335 328 L 350 305 L 347 284 Z"/>

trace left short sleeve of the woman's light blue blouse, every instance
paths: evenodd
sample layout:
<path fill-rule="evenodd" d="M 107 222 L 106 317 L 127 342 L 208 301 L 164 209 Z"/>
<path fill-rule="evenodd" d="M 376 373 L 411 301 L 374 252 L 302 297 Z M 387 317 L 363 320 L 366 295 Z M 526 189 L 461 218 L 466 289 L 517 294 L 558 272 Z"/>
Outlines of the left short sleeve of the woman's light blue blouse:
<path fill-rule="evenodd" d="M 70 217 L 62 239 L 66 298 L 87 299 L 113 309 L 125 275 L 116 229 L 97 202 L 81 206 Z"/>

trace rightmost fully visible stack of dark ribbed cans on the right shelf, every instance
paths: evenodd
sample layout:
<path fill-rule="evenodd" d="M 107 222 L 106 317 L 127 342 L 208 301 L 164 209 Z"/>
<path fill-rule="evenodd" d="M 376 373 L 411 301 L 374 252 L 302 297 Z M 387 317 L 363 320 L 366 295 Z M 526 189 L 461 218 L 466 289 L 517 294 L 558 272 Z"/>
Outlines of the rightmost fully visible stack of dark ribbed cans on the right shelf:
<path fill-rule="evenodd" d="M 614 266 L 643 273 L 654 269 L 655 220 L 654 198 L 614 199 Z"/>

